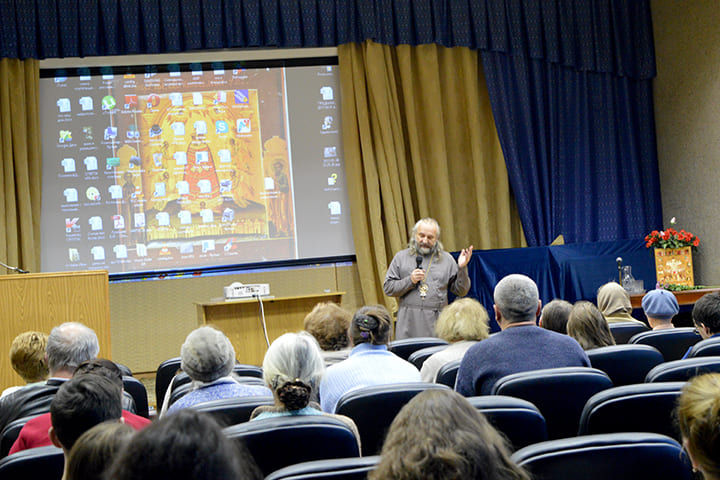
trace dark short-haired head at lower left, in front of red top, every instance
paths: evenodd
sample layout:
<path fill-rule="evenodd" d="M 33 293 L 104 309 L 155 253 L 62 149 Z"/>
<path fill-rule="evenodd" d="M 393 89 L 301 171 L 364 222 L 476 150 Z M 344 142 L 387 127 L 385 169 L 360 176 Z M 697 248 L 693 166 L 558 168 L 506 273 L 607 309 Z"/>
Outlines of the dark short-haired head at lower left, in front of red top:
<path fill-rule="evenodd" d="M 120 388 L 95 374 L 71 378 L 60 386 L 50 404 L 53 445 L 68 453 L 80 435 L 102 422 L 119 422 L 122 416 Z"/>

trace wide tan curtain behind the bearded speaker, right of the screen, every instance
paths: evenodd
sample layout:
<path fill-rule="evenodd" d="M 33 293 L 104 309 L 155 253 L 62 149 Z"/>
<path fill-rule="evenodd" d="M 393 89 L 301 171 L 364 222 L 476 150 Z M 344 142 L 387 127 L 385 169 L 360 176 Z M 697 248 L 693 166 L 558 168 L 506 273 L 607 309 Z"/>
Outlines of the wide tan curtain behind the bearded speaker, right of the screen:
<path fill-rule="evenodd" d="M 365 303 L 426 216 L 448 251 L 524 246 L 477 51 L 367 41 L 338 48 L 343 144 Z"/>

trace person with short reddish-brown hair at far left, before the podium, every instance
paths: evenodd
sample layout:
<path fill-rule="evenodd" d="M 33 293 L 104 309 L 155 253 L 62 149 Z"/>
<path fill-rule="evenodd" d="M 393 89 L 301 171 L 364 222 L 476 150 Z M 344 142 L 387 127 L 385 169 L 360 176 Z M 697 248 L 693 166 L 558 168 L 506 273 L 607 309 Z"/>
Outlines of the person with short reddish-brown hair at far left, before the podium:
<path fill-rule="evenodd" d="M 24 332 L 10 345 L 10 365 L 26 385 L 8 387 L 0 398 L 26 386 L 40 385 L 47 380 L 49 371 L 45 360 L 47 335 L 42 332 Z"/>

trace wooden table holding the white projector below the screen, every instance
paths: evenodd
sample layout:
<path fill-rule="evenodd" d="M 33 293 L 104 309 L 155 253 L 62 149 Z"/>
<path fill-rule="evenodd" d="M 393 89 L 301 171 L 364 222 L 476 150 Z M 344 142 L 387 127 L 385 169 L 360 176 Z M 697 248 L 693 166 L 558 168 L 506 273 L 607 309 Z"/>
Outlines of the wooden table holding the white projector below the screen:
<path fill-rule="evenodd" d="M 262 300 L 270 343 L 287 332 L 299 332 L 303 320 L 319 302 L 340 303 L 345 292 L 266 298 Z M 196 303 L 198 323 L 222 330 L 235 348 L 240 363 L 262 365 L 267 345 L 263 331 L 261 304 L 256 298 Z"/>

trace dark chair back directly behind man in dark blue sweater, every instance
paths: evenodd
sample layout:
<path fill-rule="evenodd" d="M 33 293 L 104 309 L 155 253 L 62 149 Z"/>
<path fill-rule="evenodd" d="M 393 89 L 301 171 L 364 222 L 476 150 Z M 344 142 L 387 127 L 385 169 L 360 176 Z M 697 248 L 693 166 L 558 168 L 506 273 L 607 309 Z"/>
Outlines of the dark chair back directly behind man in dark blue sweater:
<path fill-rule="evenodd" d="M 499 379 L 493 395 L 522 398 L 534 404 L 548 429 L 548 438 L 577 434 L 585 402 L 612 387 L 605 372 L 588 367 L 561 367 L 513 373 Z"/>

